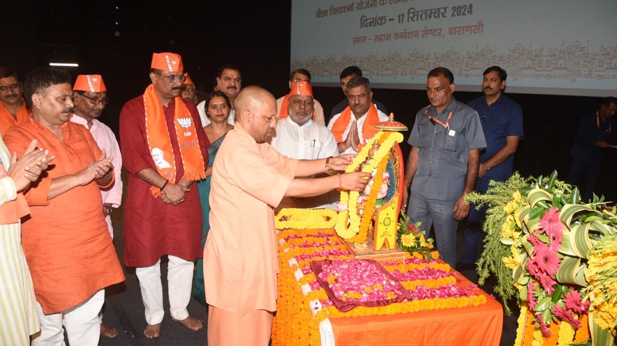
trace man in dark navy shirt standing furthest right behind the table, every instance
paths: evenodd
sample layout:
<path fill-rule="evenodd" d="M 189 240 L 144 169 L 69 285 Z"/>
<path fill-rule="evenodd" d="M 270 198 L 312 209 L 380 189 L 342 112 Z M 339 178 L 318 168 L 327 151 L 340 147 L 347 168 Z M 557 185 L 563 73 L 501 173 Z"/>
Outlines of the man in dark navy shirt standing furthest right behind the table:
<path fill-rule="evenodd" d="M 484 71 L 482 92 L 484 96 L 468 103 L 480 114 L 480 123 L 486 150 L 480 155 L 480 172 L 475 191 L 485 194 L 489 182 L 503 182 L 512 175 L 514 153 L 523 139 L 523 111 L 510 97 L 503 95 L 507 72 L 498 66 L 491 66 Z M 486 211 L 472 207 L 463 233 L 464 248 L 462 267 L 465 269 L 475 263 L 482 239 L 481 218 Z"/>

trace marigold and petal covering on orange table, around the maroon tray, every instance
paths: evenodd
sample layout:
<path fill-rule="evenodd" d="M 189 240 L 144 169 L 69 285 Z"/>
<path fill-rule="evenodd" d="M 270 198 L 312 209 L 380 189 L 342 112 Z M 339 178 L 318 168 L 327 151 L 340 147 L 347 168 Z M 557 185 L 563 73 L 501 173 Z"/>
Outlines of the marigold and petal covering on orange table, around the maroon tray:
<path fill-rule="evenodd" d="M 281 230 L 278 237 L 278 300 L 272 345 L 321 345 L 319 324 L 326 318 L 393 315 L 423 310 L 486 304 L 476 285 L 459 277 L 449 265 L 407 255 L 404 263 L 382 266 L 406 288 L 412 300 L 388 306 L 358 306 L 339 311 L 311 269 L 314 260 L 351 260 L 331 229 Z M 374 285 L 373 285 L 374 287 Z"/>

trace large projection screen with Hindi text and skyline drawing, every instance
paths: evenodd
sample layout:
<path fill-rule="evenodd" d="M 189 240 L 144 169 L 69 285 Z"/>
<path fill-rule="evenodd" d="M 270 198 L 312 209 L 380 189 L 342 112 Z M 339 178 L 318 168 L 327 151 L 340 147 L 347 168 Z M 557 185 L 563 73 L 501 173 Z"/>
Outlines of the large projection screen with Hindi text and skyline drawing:
<path fill-rule="evenodd" d="M 357 65 L 377 88 L 426 88 L 444 66 L 478 91 L 499 65 L 508 91 L 617 94 L 616 0 L 292 0 L 291 67 L 339 86 Z"/>

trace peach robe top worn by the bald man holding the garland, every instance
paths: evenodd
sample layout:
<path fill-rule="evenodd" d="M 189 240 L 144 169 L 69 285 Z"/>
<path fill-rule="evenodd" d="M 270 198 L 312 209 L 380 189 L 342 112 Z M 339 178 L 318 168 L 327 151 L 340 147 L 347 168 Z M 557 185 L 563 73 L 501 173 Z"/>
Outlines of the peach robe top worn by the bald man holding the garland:
<path fill-rule="evenodd" d="M 298 164 L 241 126 L 218 150 L 210 192 L 210 232 L 204 251 L 206 300 L 244 315 L 276 310 L 278 271 L 274 207 Z"/>

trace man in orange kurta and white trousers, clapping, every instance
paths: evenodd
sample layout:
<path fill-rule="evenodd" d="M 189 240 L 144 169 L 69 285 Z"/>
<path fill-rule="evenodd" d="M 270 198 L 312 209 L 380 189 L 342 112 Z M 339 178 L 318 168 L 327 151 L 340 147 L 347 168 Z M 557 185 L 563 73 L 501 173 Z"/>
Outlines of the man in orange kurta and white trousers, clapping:
<path fill-rule="evenodd" d="M 22 226 L 22 245 L 40 319 L 34 346 L 64 345 L 63 326 L 71 345 L 98 345 L 105 287 L 124 281 L 101 207 L 101 189 L 114 183 L 112 157 L 88 129 L 69 121 L 70 83 L 61 70 L 30 72 L 24 94 L 32 118 L 4 136 L 17 156 L 33 139 L 55 156 L 47 175 L 25 193 L 31 219 Z"/>

